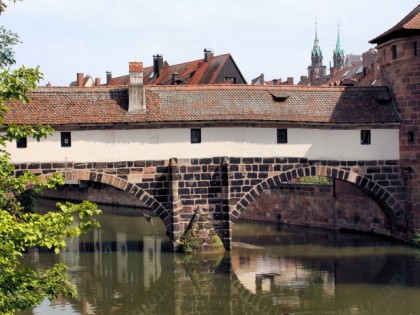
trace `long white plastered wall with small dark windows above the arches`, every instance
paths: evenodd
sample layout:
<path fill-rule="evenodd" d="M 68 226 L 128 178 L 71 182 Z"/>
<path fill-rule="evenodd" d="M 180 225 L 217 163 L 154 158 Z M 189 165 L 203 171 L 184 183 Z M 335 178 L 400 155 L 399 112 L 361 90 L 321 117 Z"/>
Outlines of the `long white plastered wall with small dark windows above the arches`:
<path fill-rule="evenodd" d="M 366 128 L 364 128 L 366 129 Z M 201 128 L 201 142 L 191 143 L 191 129 L 72 131 L 70 146 L 55 132 L 26 148 L 8 143 L 14 163 L 112 162 L 177 158 L 306 157 L 328 160 L 399 159 L 398 129 L 371 129 L 370 144 L 361 144 L 361 130 L 287 129 L 287 143 L 277 143 L 275 128 Z"/>

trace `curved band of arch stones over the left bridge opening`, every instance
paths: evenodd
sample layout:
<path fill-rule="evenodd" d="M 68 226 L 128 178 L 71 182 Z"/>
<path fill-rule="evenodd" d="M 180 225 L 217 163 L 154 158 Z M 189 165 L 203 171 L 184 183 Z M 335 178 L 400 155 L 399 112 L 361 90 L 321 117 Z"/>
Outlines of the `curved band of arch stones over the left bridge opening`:
<path fill-rule="evenodd" d="M 117 177 L 112 174 L 105 174 L 100 172 L 94 172 L 89 170 L 68 170 L 57 172 L 63 174 L 64 179 L 69 180 L 86 180 L 91 182 L 103 183 L 110 186 L 113 186 L 119 190 L 125 191 L 141 202 L 143 202 L 147 207 L 149 207 L 153 212 L 163 221 L 165 224 L 166 230 L 171 231 L 170 225 L 170 215 L 167 209 L 157 201 L 153 196 L 151 196 L 147 191 L 140 188 L 136 184 L 129 183 L 127 180 Z M 52 174 L 40 175 L 40 178 L 45 178 L 51 176 Z"/>

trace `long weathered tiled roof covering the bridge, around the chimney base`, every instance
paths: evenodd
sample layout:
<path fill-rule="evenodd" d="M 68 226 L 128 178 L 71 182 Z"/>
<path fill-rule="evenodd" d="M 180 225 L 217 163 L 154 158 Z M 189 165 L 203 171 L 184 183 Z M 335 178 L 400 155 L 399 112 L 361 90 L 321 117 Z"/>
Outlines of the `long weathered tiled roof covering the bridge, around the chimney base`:
<path fill-rule="evenodd" d="M 8 102 L 4 124 L 101 125 L 203 121 L 400 122 L 386 87 L 146 86 L 144 113 L 129 113 L 125 87 L 39 88 Z"/>

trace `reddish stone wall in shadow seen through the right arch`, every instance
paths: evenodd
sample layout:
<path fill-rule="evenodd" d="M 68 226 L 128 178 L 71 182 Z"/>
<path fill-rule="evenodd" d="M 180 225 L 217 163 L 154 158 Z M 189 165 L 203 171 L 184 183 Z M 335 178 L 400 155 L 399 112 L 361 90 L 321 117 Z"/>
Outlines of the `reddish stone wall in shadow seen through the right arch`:
<path fill-rule="evenodd" d="M 375 201 L 340 181 L 335 187 L 290 183 L 266 190 L 241 218 L 392 235 L 386 216 Z"/>

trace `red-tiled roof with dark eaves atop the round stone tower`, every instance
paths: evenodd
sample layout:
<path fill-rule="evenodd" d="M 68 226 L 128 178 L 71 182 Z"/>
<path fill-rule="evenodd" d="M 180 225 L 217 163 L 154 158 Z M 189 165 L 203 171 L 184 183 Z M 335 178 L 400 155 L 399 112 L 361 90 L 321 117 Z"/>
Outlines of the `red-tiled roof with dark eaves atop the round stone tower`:
<path fill-rule="evenodd" d="M 382 44 L 390 39 L 404 36 L 404 34 L 420 34 L 420 4 L 394 27 L 370 40 L 371 44 Z"/>

